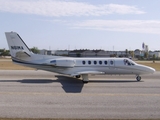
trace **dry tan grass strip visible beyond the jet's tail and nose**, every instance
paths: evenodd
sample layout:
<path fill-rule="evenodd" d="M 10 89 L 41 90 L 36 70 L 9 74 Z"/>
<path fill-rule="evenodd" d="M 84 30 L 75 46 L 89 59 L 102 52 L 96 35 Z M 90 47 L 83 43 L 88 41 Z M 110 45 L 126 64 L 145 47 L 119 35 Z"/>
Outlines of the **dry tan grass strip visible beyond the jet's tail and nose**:
<path fill-rule="evenodd" d="M 136 61 L 138 64 L 153 67 L 156 71 L 160 71 L 160 61 Z M 33 70 L 33 68 L 23 67 L 14 64 L 11 60 L 0 59 L 0 70 Z"/>

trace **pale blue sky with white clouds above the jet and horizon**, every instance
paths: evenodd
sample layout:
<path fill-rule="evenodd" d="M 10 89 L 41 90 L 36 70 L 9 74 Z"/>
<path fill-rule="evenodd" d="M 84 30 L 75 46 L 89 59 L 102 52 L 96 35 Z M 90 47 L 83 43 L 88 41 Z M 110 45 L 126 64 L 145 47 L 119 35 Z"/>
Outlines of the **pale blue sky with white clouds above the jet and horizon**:
<path fill-rule="evenodd" d="M 160 0 L 0 0 L 0 49 L 5 32 L 50 50 L 160 50 Z"/>

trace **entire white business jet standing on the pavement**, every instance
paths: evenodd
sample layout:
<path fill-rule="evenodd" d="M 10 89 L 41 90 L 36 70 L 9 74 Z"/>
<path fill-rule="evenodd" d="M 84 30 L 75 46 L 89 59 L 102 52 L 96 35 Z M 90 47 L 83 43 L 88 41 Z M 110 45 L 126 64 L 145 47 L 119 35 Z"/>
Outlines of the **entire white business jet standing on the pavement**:
<path fill-rule="evenodd" d="M 128 58 L 73 58 L 34 54 L 16 32 L 6 32 L 14 63 L 45 71 L 70 75 L 89 81 L 89 74 L 134 74 L 137 81 L 141 74 L 153 74 L 155 69 L 140 65 Z"/>

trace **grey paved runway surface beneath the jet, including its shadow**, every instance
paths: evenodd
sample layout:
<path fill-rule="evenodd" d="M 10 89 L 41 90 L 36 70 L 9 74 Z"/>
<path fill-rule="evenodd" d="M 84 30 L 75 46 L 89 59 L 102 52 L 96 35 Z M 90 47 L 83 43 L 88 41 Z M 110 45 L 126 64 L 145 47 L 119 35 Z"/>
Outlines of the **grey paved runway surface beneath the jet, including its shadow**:
<path fill-rule="evenodd" d="M 80 79 L 34 70 L 0 70 L 1 118 L 160 118 L 160 72 Z"/>

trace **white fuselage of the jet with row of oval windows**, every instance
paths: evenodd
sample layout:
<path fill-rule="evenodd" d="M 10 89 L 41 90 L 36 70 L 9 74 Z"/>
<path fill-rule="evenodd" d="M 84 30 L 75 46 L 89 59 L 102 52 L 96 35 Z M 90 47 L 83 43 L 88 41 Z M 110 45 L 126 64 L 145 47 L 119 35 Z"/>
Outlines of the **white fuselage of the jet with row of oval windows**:
<path fill-rule="evenodd" d="M 29 60 L 32 58 L 32 60 Z M 51 72 L 71 75 L 81 71 L 101 71 L 103 74 L 152 74 L 155 69 L 140 65 L 128 58 L 72 58 L 33 55 L 28 62 L 13 62 Z"/>

